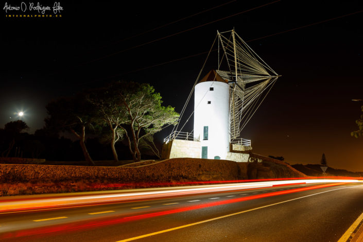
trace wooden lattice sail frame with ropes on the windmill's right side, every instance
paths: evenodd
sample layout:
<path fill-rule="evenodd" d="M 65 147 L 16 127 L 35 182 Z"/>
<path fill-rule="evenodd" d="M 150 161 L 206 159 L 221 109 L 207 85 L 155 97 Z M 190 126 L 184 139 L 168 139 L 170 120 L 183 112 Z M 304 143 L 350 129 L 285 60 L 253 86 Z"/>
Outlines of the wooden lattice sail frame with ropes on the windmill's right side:
<path fill-rule="evenodd" d="M 238 36 L 234 29 L 226 32 L 217 31 L 217 36 L 217 73 L 230 84 L 230 127 L 231 143 L 233 143 L 240 138 L 241 130 L 260 107 L 279 75 Z M 221 70 L 223 63 L 227 68 Z"/>

